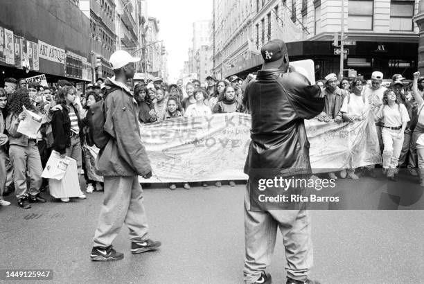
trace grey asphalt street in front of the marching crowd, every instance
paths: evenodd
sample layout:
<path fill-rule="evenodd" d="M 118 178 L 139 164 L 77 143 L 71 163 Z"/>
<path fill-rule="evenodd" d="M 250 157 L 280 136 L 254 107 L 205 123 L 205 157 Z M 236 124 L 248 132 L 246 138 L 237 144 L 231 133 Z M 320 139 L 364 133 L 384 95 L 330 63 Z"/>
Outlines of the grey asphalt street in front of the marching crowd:
<path fill-rule="evenodd" d="M 337 188 L 351 192 L 373 182 L 367 177 L 343 180 Z M 53 269 L 54 283 L 243 283 L 244 194 L 242 182 L 191 190 L 146 188 L 150 237 L 163 245 L 159 251 L 132 255 L 124 225 L 114 247 L 125 258 L 109 263 L 89 258 L 103 193 L 68 204 L 43 193 L 48 203 L 27 210 L 8 196 L 12 205 L 0 208 L 0 269 Z M 424 283 L 423 212 L 312 211 L 311 278 L 321 283 Z M 285 283 L 284 266 L 279 234 L 269 269 L 273 283 Z M 44 283 L 31 283 L 37 282 Z"/>

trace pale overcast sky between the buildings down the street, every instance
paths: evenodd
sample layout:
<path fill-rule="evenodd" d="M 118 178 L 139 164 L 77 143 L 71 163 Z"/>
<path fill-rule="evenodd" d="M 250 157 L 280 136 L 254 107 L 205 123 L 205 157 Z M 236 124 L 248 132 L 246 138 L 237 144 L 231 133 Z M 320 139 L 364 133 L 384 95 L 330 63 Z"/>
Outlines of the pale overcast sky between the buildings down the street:
<path fill-rule="evenodd" d="M 169 80 L 175 82 L 193 45 L 193 21 L 212 19 L 212 0 L 148 0 L 148 15 L 159 19 L 159 39 L 168 51 Z"/>

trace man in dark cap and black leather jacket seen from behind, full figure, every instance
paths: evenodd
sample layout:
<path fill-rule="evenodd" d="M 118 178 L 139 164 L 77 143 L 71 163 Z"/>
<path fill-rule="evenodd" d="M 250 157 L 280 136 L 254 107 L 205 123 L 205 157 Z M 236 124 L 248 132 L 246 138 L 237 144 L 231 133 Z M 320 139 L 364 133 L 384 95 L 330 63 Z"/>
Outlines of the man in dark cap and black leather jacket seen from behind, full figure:
<path fill-rule="evenodd" d="M 245 173 L 249 175 L 245 195 L 245 283 L 271 283 L 265 269 L 270 265 L 279 228 L 288 263 L 286 283 L 317 284 L 308 279 L 312 242 L 306 204 L 282 202 L 279 210 L 271 210 L 275 204 L 261 204 L 261 199 L 256 197 L 270 190 L 282 194 L 306 193 L 304 187 L 283 189 L 268 183 L 268 190 L 264 190 L 261 180 L 262 177 L 308 179 L 312 175 L 303 120 L 314 118 L 324 110 L 324 98 L 320 98 L 321 89 L 317 85 L 311 85 L 300 73 L 289 71 L 287 48 L 282 40 L 271 40 L 260 52 L 265 62 L 245 93 L 251 112 L 251 143 L 245 164 Z"/>

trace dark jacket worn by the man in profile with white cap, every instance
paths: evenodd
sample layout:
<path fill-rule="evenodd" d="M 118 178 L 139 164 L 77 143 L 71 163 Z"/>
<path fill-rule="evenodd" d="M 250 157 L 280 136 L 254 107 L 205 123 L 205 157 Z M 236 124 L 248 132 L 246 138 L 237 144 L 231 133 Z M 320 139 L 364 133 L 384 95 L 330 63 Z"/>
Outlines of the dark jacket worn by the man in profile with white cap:
<path fill-rule="evenodd" d="M 107 79 L 106 88 L 117 88 L 105 98 L 105 131 L 111 136 L 96 161 L 99 175 L 130 177 L 152 171 L 141 144 L 139 107 L 130 89 L 121 82 Z"/>

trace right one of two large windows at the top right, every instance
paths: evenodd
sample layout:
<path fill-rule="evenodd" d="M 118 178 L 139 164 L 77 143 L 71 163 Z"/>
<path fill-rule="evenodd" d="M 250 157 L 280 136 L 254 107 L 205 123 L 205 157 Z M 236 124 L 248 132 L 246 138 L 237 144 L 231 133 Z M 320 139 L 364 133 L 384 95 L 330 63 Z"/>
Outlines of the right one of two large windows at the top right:
<path fill-rule="evenodd" d="M 391 1 L 390 30 L 414 30 L 412 17 L 414 17 L 414 1 Z"/>

